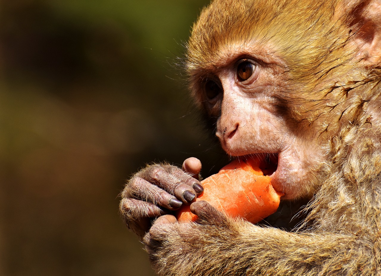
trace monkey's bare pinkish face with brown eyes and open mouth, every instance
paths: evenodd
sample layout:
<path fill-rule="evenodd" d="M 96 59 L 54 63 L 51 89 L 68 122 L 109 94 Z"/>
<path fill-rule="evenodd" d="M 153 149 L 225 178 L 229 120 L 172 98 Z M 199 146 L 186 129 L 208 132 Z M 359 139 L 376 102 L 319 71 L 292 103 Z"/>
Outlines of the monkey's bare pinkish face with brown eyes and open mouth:
<path fill-rule="evenodd" d="M 274 188 L 296 198 L 311 192 L 324 158 L 318 131 L 295 118 L 300 101 L 288 74 L 273 49 L 233 45 L 194 71 L 192 87 L 226 153 L 261 156 Z"/>

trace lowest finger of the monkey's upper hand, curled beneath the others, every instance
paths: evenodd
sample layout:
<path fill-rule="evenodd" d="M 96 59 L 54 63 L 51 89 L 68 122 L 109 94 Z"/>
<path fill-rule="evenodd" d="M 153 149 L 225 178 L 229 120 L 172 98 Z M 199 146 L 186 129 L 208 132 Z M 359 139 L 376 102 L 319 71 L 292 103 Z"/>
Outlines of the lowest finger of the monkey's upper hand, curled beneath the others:
<path fill-rule="evenodd" d="M 126 222 L 139 220 L 145 217 L 158 217 L 166 212 L 153 203 L 134 198 L 123 198 L 120 202 L 120 211 Z"/>

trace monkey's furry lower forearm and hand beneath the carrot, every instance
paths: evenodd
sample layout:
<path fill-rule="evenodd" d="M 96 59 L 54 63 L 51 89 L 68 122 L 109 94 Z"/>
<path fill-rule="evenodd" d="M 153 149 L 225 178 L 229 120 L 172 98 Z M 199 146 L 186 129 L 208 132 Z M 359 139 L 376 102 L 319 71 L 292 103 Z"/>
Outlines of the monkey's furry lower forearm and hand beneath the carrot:
<path fill-rule="evenodd" d="M 199 223 L 177 223 L 163 216 L 144 238 L 160 276 L 343 276 L 375 271 L 370 269 L 375 265 L 370 242 L 356 236 L 289 233 L 232 220 L 205 201 L 191 207 Z"/>

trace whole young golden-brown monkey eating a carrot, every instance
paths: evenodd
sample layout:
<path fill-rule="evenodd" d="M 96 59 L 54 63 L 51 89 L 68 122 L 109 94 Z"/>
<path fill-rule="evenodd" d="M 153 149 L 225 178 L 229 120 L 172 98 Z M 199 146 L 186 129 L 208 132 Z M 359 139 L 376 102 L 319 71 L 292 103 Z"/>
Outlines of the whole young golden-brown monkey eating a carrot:
<path fill-rule="evenodd" d="M 381 1 L 214 0 L 184 68 L 232 158 L 270 156 L 271 183 L 306 217 L 287 230 L 205 201 L 201 162 L 151 164 L 120 212 L 160 276 L 381 275 Z M 178 223 L 190 204 L 199 219 Z"/>

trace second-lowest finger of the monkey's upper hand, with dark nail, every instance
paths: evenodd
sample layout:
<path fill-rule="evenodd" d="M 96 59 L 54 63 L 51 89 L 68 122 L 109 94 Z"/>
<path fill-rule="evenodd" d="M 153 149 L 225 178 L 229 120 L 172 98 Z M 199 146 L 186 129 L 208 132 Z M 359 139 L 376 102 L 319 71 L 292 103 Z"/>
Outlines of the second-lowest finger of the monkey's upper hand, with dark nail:
<path fill-rule="evenodd" d="M 141 177 L 131 179 L 129 193 L 138 199 L 143 199 L 170 210 L 177 210 L 182 202 L 165 190 L 152 185 Z"/>

